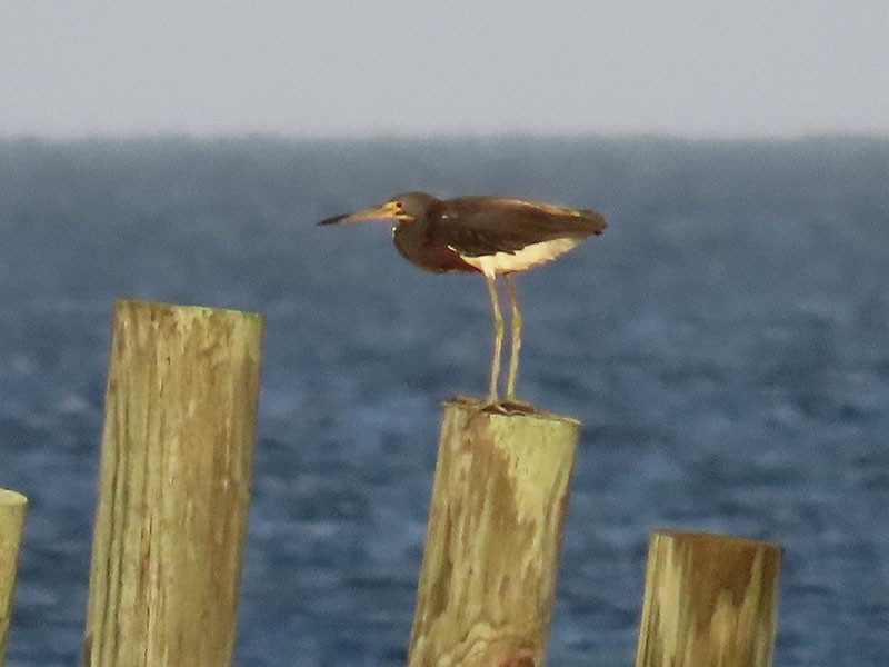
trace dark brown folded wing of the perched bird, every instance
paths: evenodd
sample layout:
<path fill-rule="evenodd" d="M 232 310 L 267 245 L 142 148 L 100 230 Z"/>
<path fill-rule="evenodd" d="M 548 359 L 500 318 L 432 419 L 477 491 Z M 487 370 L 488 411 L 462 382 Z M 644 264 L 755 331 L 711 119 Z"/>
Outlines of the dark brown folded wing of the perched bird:
<path fill-rule="evenodd" d="M 605 218 L 591 210 L 523 199 L 460 197 L 436 207 L 429 240 L 479 257 L 515 252 L 558 238 L 598 235 L 606 226 Z"/>

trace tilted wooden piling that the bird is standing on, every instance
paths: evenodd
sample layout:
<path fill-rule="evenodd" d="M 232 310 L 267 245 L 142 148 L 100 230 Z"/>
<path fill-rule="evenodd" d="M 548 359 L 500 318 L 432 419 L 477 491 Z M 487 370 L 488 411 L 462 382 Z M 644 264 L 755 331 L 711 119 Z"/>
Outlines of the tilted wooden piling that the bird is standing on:
<path fill-rule="evenodd" d="M 444 404 L 411 667 L 542 666 L 580 424 Z"/>

